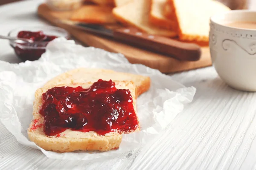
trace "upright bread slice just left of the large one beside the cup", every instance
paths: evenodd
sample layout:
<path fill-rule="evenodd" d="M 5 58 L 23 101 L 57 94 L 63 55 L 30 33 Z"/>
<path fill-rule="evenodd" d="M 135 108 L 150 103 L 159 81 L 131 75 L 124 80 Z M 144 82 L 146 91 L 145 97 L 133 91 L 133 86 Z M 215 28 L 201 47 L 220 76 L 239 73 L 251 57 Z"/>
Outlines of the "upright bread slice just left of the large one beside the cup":
<path fill-rule="evenodd" d="M 166 29 L 177 29 L 175 21 L 165 17 L 163 14 L 167 0 L 151 0 L 149 21 L 155 26 Z"/>

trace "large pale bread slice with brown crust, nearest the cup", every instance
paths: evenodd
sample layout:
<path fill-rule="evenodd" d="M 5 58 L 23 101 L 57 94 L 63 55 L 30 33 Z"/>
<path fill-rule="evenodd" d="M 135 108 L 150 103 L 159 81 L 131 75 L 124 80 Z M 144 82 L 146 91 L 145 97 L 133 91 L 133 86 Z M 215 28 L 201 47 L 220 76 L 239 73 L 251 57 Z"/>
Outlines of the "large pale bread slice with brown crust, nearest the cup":
<path fill-rule="evenodd" d="M 215 0 L 168 0 L 173 6 L 173 20 L 178 25 L 180 40 L 209 41 L 209 19 L 230 8 Z"/>

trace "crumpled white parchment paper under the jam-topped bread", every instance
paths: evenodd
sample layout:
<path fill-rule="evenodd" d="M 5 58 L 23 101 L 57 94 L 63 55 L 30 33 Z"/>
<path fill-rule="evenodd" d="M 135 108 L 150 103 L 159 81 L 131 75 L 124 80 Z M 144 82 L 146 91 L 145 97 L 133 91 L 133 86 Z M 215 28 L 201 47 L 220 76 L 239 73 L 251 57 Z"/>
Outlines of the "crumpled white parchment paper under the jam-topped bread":
<path fill-rule="evenodd" d="M 27 128 L 32 120 L 34 93 L 49 79 L 74 68 L 105 68 L 151 77 L 151 88 L 137 99 L 141 131 L 124 134 L 118 150 L 108 152 L 57 153 L 30 142 Z M 140 64 L 130 64 L 122 54 L 98 48 L 84 48 L 73 40 L 55 39 L 46 53 L 34 62 L 10 64 L 0 61 L 0 120 L 20 144 L 40 149 L 54 159 L 111 159 L 127 154 L 157 139 L 184 106 L 192 102 L 196 89 L 186 88 L 160 71 Z"/>

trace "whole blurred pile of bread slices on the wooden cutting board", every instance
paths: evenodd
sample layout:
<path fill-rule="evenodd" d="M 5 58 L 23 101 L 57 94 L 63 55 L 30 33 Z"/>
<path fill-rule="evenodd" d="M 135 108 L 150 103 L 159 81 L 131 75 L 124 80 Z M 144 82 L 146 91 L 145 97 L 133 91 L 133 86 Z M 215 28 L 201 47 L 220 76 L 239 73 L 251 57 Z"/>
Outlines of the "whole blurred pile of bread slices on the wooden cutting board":
<path fill-rule="evenodd" d="M 148 34 L 199 45 L 209 41 L 209 18 L 221 11 L 247 8 L 247 0 L 86 0 L 71 20 L 132 26 Z M 107 26 L 109 28 L 109 26 Z"/>

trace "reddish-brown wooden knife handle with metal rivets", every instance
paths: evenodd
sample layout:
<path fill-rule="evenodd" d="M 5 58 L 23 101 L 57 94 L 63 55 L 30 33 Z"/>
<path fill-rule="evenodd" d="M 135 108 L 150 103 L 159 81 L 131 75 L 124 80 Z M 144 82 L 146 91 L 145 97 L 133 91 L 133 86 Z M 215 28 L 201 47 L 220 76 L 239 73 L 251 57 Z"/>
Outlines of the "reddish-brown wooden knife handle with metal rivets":
<path fill-rule="evenodd" d="M 183 61 L 196 61 L 201 57 L 199 45 L 150 35 L 140 32 L 136 28 L 116 29 L 113 31 L 113 37 Z"/>

